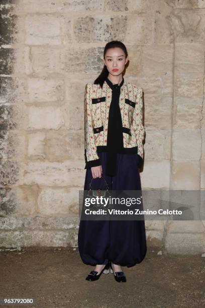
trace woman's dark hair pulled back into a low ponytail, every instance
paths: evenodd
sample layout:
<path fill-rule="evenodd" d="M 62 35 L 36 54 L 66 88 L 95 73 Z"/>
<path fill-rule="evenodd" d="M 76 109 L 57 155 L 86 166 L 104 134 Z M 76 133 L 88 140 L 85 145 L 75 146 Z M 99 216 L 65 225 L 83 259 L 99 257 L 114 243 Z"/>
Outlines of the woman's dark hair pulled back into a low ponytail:
<path fill-rule="evenodd" d="M 121 48 L 125 55 L 126 55 L 126 58 L 128 56 L 128 51 L 127 51 L 127 48 L 125 47 L 125 45 L 121 42 L 121 41 L 111 41 L 111 42 L 108 42 L 104 48 L 104 59 L 105 59 L 105 56 L 106 56 L 106 52 L 108 49 L 110 48 L 115 48 L 115 47 L 119 47 Z M 109 75 L 109 71 L 108 71 L 108 68 L 107 66 L 104 64 L 104 67 L 102 68 L 102 71 L 101 73 L 99 74 L 99 76 L 95 79 L 94 81 L 94 84 L 95 85 L 100 85 L 100 87 L 102 88 L 102 85 L 104 84 L 106 78 L 108 77 Z"/>

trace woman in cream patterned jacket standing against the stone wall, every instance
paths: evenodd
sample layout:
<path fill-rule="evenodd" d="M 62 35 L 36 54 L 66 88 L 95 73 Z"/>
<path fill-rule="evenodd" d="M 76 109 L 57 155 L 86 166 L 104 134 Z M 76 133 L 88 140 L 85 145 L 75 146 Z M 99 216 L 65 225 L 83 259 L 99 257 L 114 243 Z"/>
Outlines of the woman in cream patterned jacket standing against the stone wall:
<path fill-rule="evenodd" d="M 107 43 L 104 68 L 84 97 L 85 183 L 84 190 L 140 190 L 143 163 L 143 90 L 123 78 L 128 52 L 120 41 Z M 140 263 L 147 251 L 144 220 L 80 220 L 78 248 L 83 263 L 95 266 L 86 277 L 114 273 L 126 282 L 121 266 Z"/>

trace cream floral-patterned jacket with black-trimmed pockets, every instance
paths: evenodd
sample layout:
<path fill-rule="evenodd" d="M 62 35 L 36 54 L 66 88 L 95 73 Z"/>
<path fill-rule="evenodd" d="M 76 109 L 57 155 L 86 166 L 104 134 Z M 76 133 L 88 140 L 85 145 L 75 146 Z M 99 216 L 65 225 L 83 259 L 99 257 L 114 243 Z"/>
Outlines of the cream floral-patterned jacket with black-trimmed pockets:
<path fill-rule="evenodd" d="M 112 89 L 104 82 L 86 84 L 84 93 L 84 146 L 87 162 L 99 159 L 98 145 L 107 145 L 108 118 Z M 124 147 L 138 146 L 143 159 L 143 89 L 124 80 L 120 93 L 120 110 L 123 123 Z"/>

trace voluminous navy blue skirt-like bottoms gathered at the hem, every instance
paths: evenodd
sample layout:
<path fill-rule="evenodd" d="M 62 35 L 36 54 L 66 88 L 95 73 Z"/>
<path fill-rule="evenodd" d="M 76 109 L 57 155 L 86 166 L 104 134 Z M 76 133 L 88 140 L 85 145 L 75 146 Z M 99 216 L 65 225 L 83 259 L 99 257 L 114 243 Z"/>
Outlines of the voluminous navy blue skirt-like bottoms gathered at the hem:
<path fill-rule="evenodd" d="M 102 176 L 109 190 L 141 190 L 137 154 L 117 154 L 116 176 L 105 175 L 106 152 L 97 153 Z M 84 190 L 89 189 L 91 169 L 86 169 Z M 101 178 L 92 180 L 92 189 L 105 189 Z M 78 249 L 83 263 L 95 266 L 112 261 L 131 267 L 142 262 L 147 252 L 144 220 L 80 220 Z"/>

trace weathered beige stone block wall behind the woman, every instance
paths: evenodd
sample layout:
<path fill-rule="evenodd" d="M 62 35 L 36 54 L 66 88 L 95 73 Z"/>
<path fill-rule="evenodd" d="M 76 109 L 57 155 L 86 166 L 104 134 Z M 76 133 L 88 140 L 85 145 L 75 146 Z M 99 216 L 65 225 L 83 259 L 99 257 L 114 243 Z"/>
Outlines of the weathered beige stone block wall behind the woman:
<path fill-rule="evenodd" d="M 83 95 L 113 39 L 144 89 L 143 189 L 205 189 L 202 0 L 2 0 L 1 247 L 77 246 Z M 201 204 L 201 206 L 204 206 Z M 149 246 L 202 253 L 203 221 L 146 221 Z"/>

